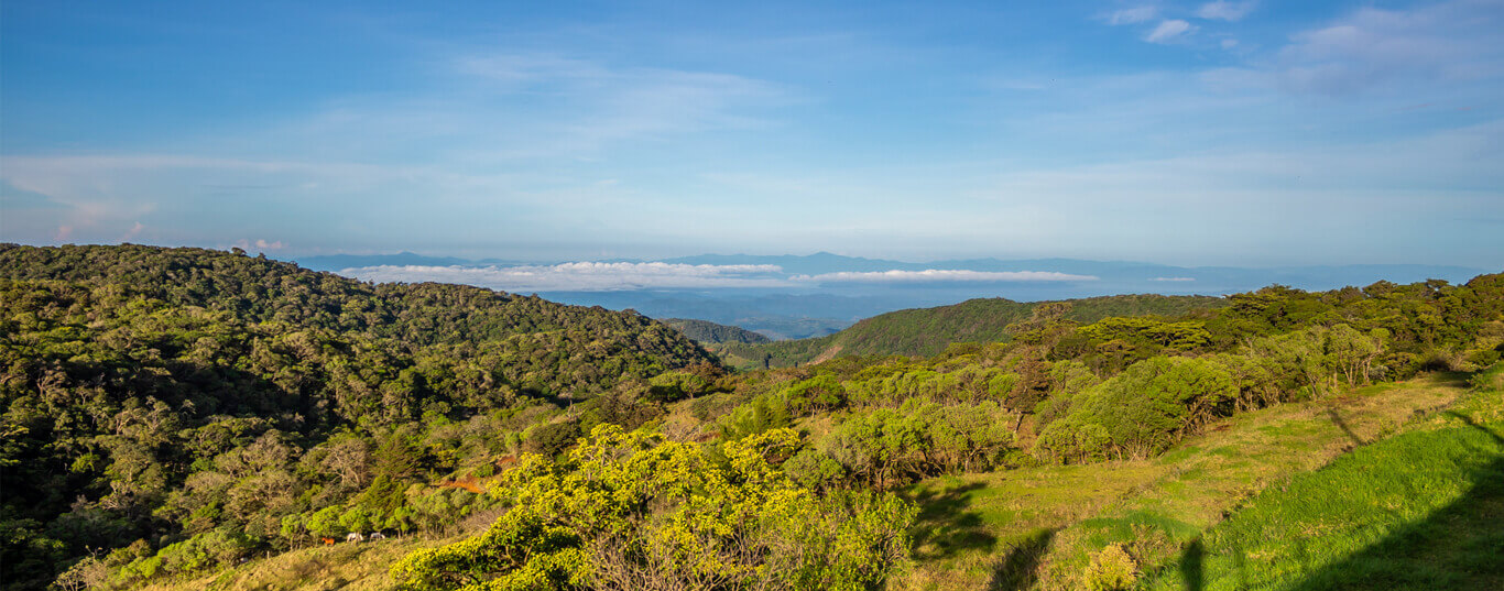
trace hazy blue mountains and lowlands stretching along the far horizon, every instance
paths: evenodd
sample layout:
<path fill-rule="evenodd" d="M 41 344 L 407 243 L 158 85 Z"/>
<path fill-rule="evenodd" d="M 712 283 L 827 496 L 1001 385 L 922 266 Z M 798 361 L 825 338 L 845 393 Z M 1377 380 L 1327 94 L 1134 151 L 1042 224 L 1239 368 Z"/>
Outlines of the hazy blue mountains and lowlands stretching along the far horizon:
<path fill-rule="evenodd" d="M 496 274 L 466 271 L 507 269 L 520 265 L 572 268 L 569 262 L 522 263 L 501 259 L 430 257 L 414 253 L 335 254 L 293 259 L 316 271 L 343 272 L 379 281 L 453 281 L 484 287 L 538 293 L 578 305 L 612 310 L 632 308 L 659 319 L 698 319 L 734 325 L 772 338 L 805 338 L 832 334 L 856 320 L 881 313 L 955 304 L 975 298 L 1008 298 L 1020 302 L 1092 298 L 1126 293 L 1226 295 L 1283 284 L 1304 290 L 1367 286 L 1376 281 L 1412 283 L 1429 278 L 1462 283 L 1486 272 L 1447 265 L 1328 265 L 1328 266 L 1172 266 L 1140 262 L 1080 259 L 955 259 L 901 262 L 848 257 L 832 253 L 806 256 L 701 254 L 662 260 L 615 259 L 594 262 L 591 284 L 572 287 L 569 277 L 547 287 L 510 286 Z M 623 277 L 602 287 L 600 272 L 656 274 L 755 274 L 755 281 L 680 283 L 669 287 Z M 689 268 L 693 266 L 693 268 Z M 442 269 L 439 269 L 442 268 Z M 626 271 L 617 269 L 626 268 Z M 538 269 L 529 269 L 538 271 Z M 549 269 L 541 269 L 547 272 Z M 468 280 L 468 277 L 474 278 Z M 504 274 L 502 274 L 504 275 Z M 534 274 L 535 275 L 535 274 Z M 662 277 L 662 275 L 654 275 Z"/>

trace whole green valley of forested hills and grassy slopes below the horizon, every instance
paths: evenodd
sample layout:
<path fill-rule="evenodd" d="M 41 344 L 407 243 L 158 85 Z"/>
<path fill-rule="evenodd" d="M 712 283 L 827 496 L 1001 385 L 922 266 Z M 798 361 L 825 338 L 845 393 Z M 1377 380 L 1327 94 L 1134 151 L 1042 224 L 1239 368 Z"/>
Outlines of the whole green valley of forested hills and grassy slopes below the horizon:
<path fill-rule="evenodd" d="M 8 588 L 1498 574 L 1487 528 L 1457 531 L 1444 571 L 1363 556 L 1496 510 L 1477 483 L 1504 412 L 1504 275 L 981 299 L 811 341 L 680 322 L 722 341 L 701 346 L 630 311 L 242 253 L 9 245 L 0 263 Z M 746 350 L 787 353 L 749 368 Z M 1424 450 L 1435 466 L 1406 468 Z M 1417 496 L 1412 475 L 1435 484 Z M 1367 505 L 1281 496 L 1354 478 Z M 1304 534 L 1271 519 L 1346 541 L 1289 562 Z"/>

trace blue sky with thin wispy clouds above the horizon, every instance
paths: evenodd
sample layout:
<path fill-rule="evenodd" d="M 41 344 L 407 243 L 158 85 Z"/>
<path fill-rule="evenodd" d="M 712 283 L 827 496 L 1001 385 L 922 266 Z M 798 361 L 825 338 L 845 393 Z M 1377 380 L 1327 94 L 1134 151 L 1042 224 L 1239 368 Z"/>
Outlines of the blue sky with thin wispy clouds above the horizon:
<path fill-rule="evenodd" d="M 0 239 L 1504 266 L 1504 2 L 227 5 L 0 3 Z"/>

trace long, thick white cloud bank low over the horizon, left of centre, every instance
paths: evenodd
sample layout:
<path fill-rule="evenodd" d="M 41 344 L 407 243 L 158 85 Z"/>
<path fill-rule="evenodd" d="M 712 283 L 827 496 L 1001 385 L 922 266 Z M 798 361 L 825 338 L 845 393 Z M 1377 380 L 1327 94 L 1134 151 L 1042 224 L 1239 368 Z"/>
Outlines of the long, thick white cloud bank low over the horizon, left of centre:
<path fill-rule="evenodd" d="M 638 289 L 787 287 L 778 265 L 596 263 L 523 266 L 382 265 L 340 271 L 365 281 L 439 281 L 502 292 L 620 292 Z"/>

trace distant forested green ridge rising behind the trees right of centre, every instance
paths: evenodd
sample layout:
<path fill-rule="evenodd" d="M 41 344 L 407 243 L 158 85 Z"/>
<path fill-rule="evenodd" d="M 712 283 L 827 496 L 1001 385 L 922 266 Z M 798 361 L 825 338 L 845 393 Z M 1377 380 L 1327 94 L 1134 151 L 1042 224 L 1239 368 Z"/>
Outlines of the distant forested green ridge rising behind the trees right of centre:
<path fill-rule="evenodd" d="M 1071 299 L 1065 317 L 1096 322 L 1110 316 L 1182 316 L 1226 302 L 1211 296 L 1125 295 Z M 935 355 L 951 343 L 1008 340 L 1009 328 L 1042 304 L 1003 298 L 969 299 L 937 308 L 899 310 L 857 322 L 841 332 L 767 344 L 722 343 L 711 349 L 732 367 L 793 367 L 836 355 Z"/>

